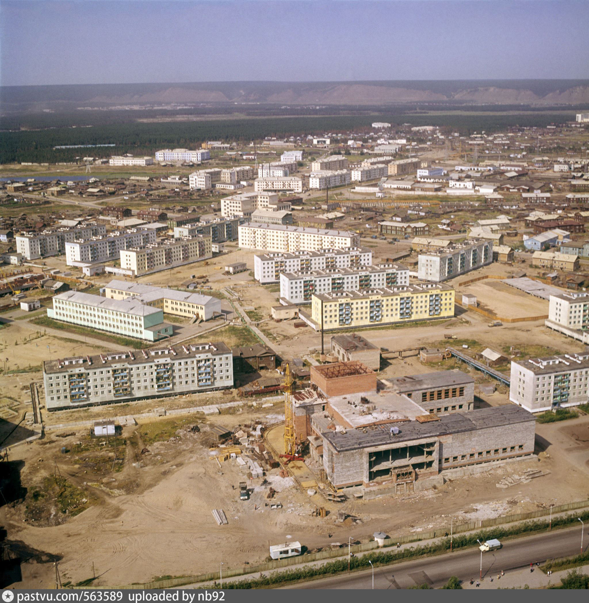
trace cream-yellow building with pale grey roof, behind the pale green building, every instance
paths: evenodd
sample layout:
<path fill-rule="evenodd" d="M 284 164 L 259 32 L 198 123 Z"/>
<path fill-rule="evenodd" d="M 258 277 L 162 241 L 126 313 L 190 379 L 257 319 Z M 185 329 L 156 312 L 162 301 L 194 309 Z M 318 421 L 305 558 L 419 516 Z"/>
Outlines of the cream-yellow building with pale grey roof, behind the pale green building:
<path fill-rule="evenodd" d="M 165 314 L 174 314 L 200 320 L 210 320 L 221 313 L 221 300 L 210 295 L 190 291 L 177 291 L 125 280 L 111 280 L 106 285 L 105 295 L 113 300 L 133 298 L 147 306 L 159 308 Z"/>

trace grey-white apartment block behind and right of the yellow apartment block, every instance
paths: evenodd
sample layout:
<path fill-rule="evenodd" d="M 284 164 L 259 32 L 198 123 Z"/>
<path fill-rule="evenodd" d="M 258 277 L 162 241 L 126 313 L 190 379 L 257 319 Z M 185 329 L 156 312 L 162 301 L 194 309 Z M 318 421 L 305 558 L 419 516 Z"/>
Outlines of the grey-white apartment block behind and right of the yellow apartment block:
<path fill-rule="evenodd" d="M 493 241 L 465 241 L 439 251 L 420 253 L 417 275 L 435 283 L 465 274 L 493 262 Z"/>

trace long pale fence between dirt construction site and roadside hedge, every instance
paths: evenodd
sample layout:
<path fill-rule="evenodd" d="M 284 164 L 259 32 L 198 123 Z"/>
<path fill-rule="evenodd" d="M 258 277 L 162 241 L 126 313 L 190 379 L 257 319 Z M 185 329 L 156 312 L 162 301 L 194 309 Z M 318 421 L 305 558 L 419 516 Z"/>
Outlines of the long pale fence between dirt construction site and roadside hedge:
<path fill-rule="evenodd" d="M 563 513 L 565 511 L 573 511 L 575 509 L 581 509 L 589 507 L 589 500 L 579 500 L 577 502 L 569 502 L 564 505 L 558 505 L 552 507 L 552 514 Z M 453 534 L 461 534 L 463 532 L 471 532 L 473 530 L 482 528 L 491 528 L 493 526 L 502 525 L 504 523 L 514 523 L 519 521 L 525 521 L 529 519 L 535 519 L 537 517 L 545 517 L 550 514 L 550 509 L 538 509 L 538 511 L 529 511 L 529 513 L 518 513 L 514 515 L 505 515 L 502 517 L 494 517 L 493 519 L 477 519 L 471 522 L 462 523 L 461 525 L 455 526 Z M 403 536 L 391 537 L 385 542 L 386 546 L 395 546 L 398 543 L 408 544 L 412 542 L 418 542 L 423 540 L 430 540 L 432 538 L 444 537 L 447 533 L 446 528 L 438 530 L 432 530 L 430 532 L 420 532 L 419 534 L 406 534 Z M 350 547 L 350 552 L 361 553 L 367 551 L 373 551 L 379 548 L 376 541 L 365 542 L 360 545 L 353 545 Z M 311 561 L 321 561 L 324 559 L 332 559 L 335 557 L 343 557 L 347 555 L 348 547 L 343 545 L 342 548 L 334 549 L 332 551 L 319 551 L 317 553 L 310 553 L 300 557 L 288 557 L 286 559 L 277 559 L 269 561 L 268 563 L 260 563 L 257 566 L 244 566 L 236 569 L 226 569 L 223 572 L 223 578 L 234 578 L 235 576 L 242 576 L 245 574 L 253 574 L 258 572 L 267 572 L 268 570 L 279 569 L 281 567 L 289 567 L 293 565 L 299 565 L 309 563 Z M 192 584 L 194 582 L 210 582 L 211 580 L 218 580 L 219 572 L 208 572 L 194 576 L 181 576 L 179 578 L 171 578 L 168 580 L 159 580 L 156 582 L 146 582 L 145 584 L 128 584 L 127 586 L 117 586 L 117 589 L 169 589 L 175 586 L 185 586 L 186 584 Z M 92 586 L 78 586 L 72 587 L 75 589 L 89 589 L 89 588 L 102 588 Z"/>

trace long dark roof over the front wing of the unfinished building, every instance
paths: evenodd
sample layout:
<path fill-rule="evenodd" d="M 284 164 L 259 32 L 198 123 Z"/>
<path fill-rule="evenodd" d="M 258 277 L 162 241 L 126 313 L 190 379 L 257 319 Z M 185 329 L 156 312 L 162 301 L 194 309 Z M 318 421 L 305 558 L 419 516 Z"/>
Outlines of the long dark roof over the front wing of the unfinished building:
<path fill-rule="evenodd" d="M 508 404 L 479 408 L 465 413 L 441 415 L 438 421 L 424 423 L 406 421 L 401 425 L 396 425 L 399 430 L 397 435 L 392 435 L 391 426 L 386 424 L 369 426 L 365 429 L 347 429 L 345 432 L 326 431 L 321 435 L 335 450 L 344 452 L 345 450 L 386 446 L 403 441 L 438 438 L 444 435 L 502 427 L 514 423 L 535 422 L 535 420 L 534 415 L 521 406 Z"/>

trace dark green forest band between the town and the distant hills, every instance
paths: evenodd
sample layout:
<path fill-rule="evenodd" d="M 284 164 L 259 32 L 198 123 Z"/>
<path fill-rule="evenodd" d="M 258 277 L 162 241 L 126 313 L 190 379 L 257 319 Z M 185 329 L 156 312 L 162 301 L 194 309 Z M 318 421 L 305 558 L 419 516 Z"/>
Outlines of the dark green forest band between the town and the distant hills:
<path fill-rule="evenodd" d="M 49 114 L 51 115 L 51 114 Z M 266 136 L 306 136 L 326 132 L 371 131 L 373 121 L 392 125 L 439 125 L 470 134 L 505 130 L 510 126 L 544 127 L 553 123 L 573 121 L 574 112 L 538 113 L 528 115 L 502 114 L 448 114 L 409 115 L 408 113 L 380 113 L 373 115 L 313 116 L 295 118 L 214 119 L 189 122 L 134 122 L 127 124 L 93 125 L 87 127 L 53 127 L 36 131 L 0 132 L 0 162 L 67 162 L 76 157 L 92 155 L 109 157 L 111 154 L 151 154 L 160 148 L 200 147 L 205 140 L 250 142 Z M 58 145 L 115 144 L 115 148 L 92 150 L 58 149 Z"/>

